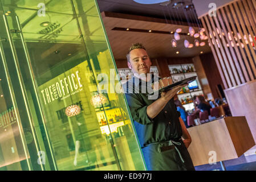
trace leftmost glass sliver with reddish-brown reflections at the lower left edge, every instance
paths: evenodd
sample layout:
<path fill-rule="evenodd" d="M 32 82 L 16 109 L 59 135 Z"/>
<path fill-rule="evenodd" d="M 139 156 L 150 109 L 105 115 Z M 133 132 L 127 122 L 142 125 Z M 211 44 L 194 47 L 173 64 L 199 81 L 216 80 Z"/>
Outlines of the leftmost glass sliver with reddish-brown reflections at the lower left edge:
<path fill-rule="evenodd" d="M 0 39 L 0 171 L 29 170 L 30 162 L 25 137 L 20 125 L 19 115 L 15 100 L 11 97 L 12 86 L 8 82 L 4 64 L 6 64 L 3 52 L 2 39 Z M 9 77 L 9 76 L 8 76 Z M 25 133 L 27 139 L 30 133 Z"/>

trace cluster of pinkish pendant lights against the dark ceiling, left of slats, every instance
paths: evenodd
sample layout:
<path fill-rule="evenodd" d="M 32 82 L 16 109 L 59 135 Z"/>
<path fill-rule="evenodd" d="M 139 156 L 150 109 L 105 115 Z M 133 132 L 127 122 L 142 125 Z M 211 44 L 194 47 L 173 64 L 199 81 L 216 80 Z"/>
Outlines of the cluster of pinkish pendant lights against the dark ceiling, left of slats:
<path fill-rule="evenodd" d="M 177 28 L 174 32 L 174 39 L 172 39 L 172 47 L 177 47 L 177 40 L 180 40 L 180 32 L 182 31 L 181 28 Z M 190 43 L 188 40 L 184 40 L 184 46 L 185 48 L 192 48 L 194 46 L 205 46 L 205 42 L 200 42 L 197 38 L 200 38 L 201 40 L 207 40 L 208 36 L 205 35 L 205 28 L 200 28 L 198 32 L 194 30 L 193 27 L 189 27 L 189 33 L 193 38 L 196 38 L 194 40 L 194 43 Z"/>

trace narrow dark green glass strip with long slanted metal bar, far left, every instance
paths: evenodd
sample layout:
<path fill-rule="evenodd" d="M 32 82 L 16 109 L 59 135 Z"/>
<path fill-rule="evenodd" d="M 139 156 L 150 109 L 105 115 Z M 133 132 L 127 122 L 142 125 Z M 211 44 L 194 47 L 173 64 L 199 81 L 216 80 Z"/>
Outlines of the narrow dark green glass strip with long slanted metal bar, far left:
<path fill-rule="evenodd" d="M 13 19 L 13 16 L 10 16 L 10 18 L 12 21 L 15 20 Z M 28 150 L 27 156 L 29 158 L 29 163 L 31 164 L 29 169 L 52 169 L 52 167 L 50 167 L 50 165 L 52 165 L 52 159 L 48 159 L 51 155 L 46 155 L 48 146 L 44 146 L 46 139 L 42 119 L 36 117 L 36 115 L 38 115 L 38 110 L 35 108 L 38 108 L 38 106 L 36 104 L 34 93 L 31 90 L 31 83 L 28 80 L 29 75 L 27 73 L 29 72 L 26 68 L 26 56 L 21 39 L 19 39 L 18 34 L 13 31 L 14 29 L 8 28 L 9 23 L 3 18 L 2 14 L 0 16 L 0 23 L 1 46 L 2 52 L 5 54 L 3 57 L 6 59 L 5 72 L 6 74 L 7 72 L 10 73 L 9 81 L 15 88 L 13 90 L 12 98 L 17 103 L 18 117 L 21 122 L 19 124 L 21 127 L 20 130 L 25 135 L 23 144 Z M 13 27 L 13 24 L 11 27 Z M 18 64 L 19 60 L 21 60 L 20 65 Z M 22 71 L 22 75 L 19 74 L 20 71 Z M 26 85 L 27 89 L 25 89 L 24 85 Z M 36 131 L 40 133 L 35 135 Z M 39 146 L 38 142 L 42 142 L 42 145 Z"/>

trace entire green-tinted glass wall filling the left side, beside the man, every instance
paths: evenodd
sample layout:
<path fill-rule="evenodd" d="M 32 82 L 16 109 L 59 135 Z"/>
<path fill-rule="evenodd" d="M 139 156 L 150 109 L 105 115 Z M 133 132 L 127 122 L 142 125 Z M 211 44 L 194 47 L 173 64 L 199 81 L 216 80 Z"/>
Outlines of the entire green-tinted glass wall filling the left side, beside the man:
<path fill-rule="evenodd" d="M 0 170 L 145 170 L 96 1 L 0 2 Z"/>

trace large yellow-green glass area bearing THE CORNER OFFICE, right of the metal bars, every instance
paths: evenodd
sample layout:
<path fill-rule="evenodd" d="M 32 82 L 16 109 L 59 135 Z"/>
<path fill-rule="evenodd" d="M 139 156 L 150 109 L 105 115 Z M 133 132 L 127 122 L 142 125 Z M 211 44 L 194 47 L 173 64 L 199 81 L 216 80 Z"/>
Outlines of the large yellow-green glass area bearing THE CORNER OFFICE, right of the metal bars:
<path fill-rule="evenodd" d="M 145 169 L 124 94 L 97 88 L 97 75 L 116 68 L 95 2 L 1 2 L 42 169 Z"/>

